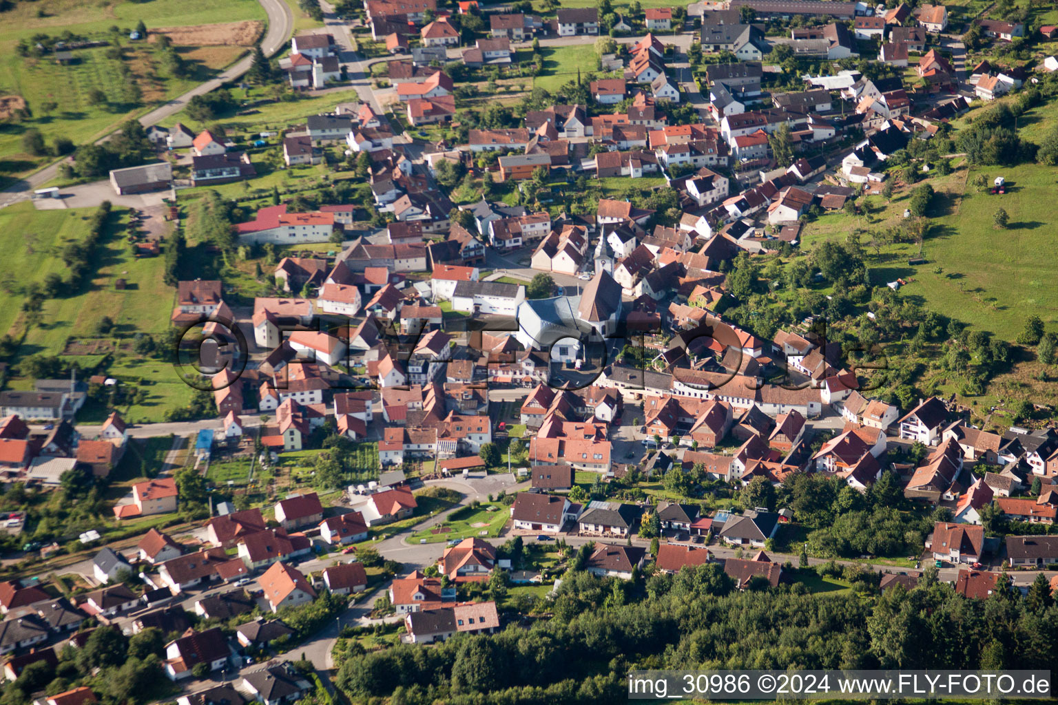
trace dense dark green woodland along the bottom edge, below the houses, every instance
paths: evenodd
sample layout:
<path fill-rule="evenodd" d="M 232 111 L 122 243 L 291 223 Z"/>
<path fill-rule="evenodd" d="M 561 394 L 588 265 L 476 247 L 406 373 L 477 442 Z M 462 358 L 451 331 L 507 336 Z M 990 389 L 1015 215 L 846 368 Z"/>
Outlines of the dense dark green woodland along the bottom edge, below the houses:
<path fill-rule="evenodd" d="M 612 703 L 626 695 L 627 670 L 642 664 L 1050 668 L 1058 647 L 1058 608 L 1039 590 L 1032 599 L 1005 588 L 988 599 L 966 599 L 930 572 L 910 592 L 805 593 L 804 586 L 738 592 L 715 563 L 627 581 L 573 571 L 548 621 L 349 657 L 336 683 L 353 699 L 391 697 L 409 705 Z"/>

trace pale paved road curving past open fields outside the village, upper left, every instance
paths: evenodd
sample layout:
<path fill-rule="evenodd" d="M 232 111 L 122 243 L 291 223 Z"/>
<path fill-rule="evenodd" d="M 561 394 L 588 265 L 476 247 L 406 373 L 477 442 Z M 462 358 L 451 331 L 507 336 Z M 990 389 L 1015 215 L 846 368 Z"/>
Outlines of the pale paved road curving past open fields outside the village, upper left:
<path fill-rule="evenodd" d="M 290 11 L 290 5 L 282 0 L 257 1 L 268 14 L 268 31 L 264 34 L 264 39 L 261 41 L 261 49 L 267 55 L 272 55 L 279 51 L 279 49 L 281 49 L 290 39 L 291 32 L 294 29 L 294 16 Z M 196 95 L 208 93 L 209 91 L 220 87 L 222 84 L 238 78 L 244 74 L 250 69 L 252 61 L 253 59 L 251 56 L 245 56 L 232 67 L 221 72 L 216 78 L 207 80 L 204 84 L 200 84 L 180 97 L 169 100 L 168 103 L 151 110 L 146 115 L 143 115 L 140 118 L 140 122 L 144 127 L 161 123 L 166 117 L 183 109 L 184 105 Z M 109 138 L 110 135 L 102 137 L 96 141 L 96 144 L 106 142 Z M 25 179 L 21 179 L 14 185 L 5 188 L 3 191 L 0 191 L 0 208 L 19 201 L 24 201 L 30 198 L 34 189 L 40 188 L 41 184 L 45 184 L 55 179 L 58 175 L 58 166 L 60 163 L 61 160 L 59 162 L 55 162 L 54 164 L 50 164 L 36 173 L 33 173 Z"/>

